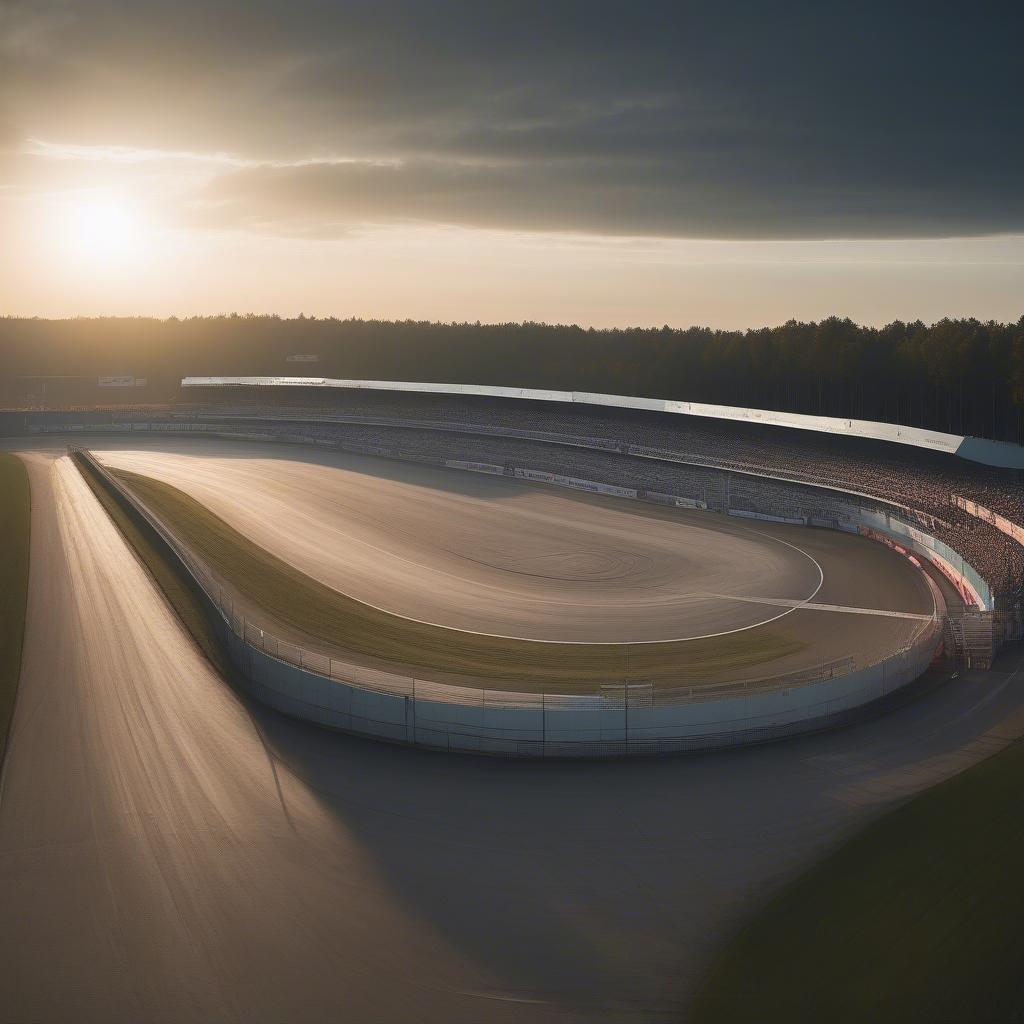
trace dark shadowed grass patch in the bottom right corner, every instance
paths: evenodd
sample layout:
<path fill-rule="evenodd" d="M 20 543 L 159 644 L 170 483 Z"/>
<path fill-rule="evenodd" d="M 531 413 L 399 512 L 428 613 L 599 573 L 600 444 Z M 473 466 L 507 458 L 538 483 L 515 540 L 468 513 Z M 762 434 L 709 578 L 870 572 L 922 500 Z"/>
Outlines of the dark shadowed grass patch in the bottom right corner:
<path fill-rule="evenodd" d="M 1024 1021 L 1024 744 L 891 812 L 721 953 L 693 1024 Z"/>

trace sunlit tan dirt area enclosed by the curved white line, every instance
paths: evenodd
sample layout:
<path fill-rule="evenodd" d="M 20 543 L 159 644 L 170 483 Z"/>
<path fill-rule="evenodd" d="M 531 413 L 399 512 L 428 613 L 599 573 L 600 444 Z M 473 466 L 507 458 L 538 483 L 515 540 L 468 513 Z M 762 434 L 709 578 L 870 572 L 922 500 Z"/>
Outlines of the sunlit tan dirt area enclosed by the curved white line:
<path fill-rule="evenodd" d="M 359 600 L 458 629 L 545 640 L 667 640 L 742 629 L 771 609 L 710 593 L 804 599 L 799 551 L 735 529 L 644 518 L 617 503 L 345 455 L 104 452 Z M 287 450 L 286 450 L 287 454 Z M 718 518 L 718 517 L 716 517 Z"/>

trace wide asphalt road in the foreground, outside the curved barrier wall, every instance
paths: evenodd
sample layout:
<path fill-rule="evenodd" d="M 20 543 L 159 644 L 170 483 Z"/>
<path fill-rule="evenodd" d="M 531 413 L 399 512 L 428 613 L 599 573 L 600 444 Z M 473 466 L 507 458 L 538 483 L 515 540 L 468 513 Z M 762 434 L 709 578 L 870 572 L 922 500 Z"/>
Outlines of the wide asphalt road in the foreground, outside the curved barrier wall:
<path fill-rule="evenodd" d="M 1024 731 L 1019 652 L 862 725 L 637 762 L 330 733 L 237 696 L 66 458 L 0 788 L 0 1019 L 678 1020 L 772 889 Z"/>

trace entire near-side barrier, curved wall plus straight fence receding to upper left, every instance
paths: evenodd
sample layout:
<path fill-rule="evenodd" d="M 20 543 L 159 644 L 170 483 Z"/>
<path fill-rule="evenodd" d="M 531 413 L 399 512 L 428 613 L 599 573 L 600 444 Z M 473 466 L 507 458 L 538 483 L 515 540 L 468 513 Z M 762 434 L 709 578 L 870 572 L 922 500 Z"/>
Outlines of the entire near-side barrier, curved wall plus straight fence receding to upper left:
<path fill-rule="evenodd" d="M 944 606 L 878 664 L 853 659 L 775 679 L 670 689 L 610 681 L 592 694 L 450 686 L 350 665 L 282 641 L 234 608 L 229 588 L 116 476 L 83 455 L 199 585 L 239 681 L 297 718 L 360 735 L 464 753 L 518 757 L 657 754 L 766 740 L 839 724 L 918 679 L 942 639 Z M 926 579 L 928 579 L 926 577 Z"/>

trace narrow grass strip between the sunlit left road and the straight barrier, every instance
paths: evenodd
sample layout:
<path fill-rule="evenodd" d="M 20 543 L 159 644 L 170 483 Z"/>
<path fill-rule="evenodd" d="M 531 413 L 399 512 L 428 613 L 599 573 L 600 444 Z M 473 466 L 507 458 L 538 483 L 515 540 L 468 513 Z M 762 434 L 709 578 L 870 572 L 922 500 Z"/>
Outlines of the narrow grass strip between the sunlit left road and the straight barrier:
<path fill-rule="evenodd" d="M 227 678 L 230 667 L 217 642 L 209 612 L 203 604 L 202 591 L 196 581 L 167 550 L 163 540 L 153 527 L 109 485 L 87 459 L 78 453 L 73 453 L 72 459 L 99 504 L 106 510 L 139 561 L 160 587 L 168 603 L 193 635 L 200 650 L 211 665 Z"/>

